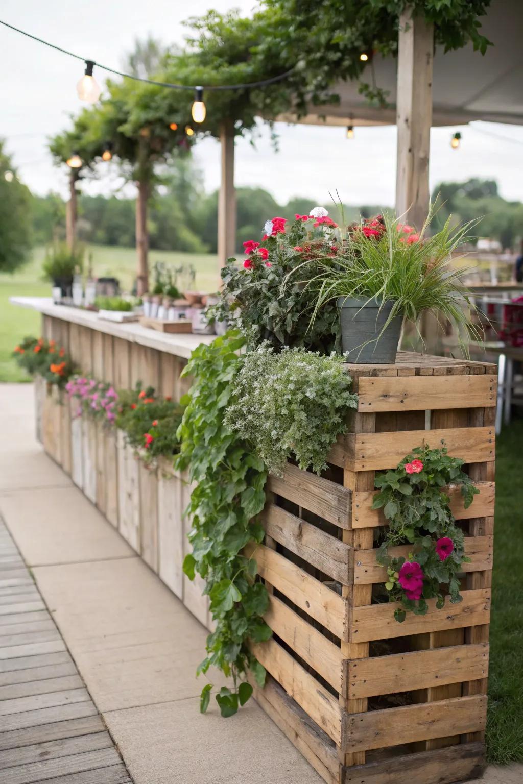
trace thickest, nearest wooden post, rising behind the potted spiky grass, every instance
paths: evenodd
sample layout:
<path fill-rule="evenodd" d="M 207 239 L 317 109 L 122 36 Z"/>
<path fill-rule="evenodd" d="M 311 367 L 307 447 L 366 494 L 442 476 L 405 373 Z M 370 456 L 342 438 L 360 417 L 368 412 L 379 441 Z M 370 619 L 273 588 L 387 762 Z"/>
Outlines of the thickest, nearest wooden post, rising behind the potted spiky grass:
<path fill-rule="evenodd" d="M 400 16 L 398 41 L 398 163 L 396 212 L 418 229 L 429 205 L 434 29 L 412 6 Z"/>

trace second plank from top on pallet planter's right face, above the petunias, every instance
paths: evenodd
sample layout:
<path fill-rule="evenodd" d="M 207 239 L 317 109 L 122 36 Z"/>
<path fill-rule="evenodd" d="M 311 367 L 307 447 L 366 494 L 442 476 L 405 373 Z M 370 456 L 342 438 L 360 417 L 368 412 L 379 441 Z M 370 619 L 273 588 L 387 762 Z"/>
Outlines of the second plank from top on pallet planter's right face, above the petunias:
<path fill-rule="evenodd" d="M 345 465 L 355 471 L 394 468 L 412 449 L 423 445 L 445 445 L 452 457 L 463 458 L 466 463 L 484 463 L 495 457 L 494 442 L 492 427 L 347 434 Z"/>

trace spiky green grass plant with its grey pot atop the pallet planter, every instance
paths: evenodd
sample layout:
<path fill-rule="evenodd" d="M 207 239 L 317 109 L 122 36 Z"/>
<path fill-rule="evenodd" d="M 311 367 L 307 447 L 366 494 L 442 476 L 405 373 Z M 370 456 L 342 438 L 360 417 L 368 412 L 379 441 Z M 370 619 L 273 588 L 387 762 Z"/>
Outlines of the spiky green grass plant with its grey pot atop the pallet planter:
<path fill-rule="evenodd" d="M 426 310 L 443 325 L 451 322 L 459 338 L 463 328 L 473 329 L 467 270 L 452 263 L 470 224 L 452 229 L 449 219 L 427 236 L 430 217 L 419 233 L 387 214 L 353 224 L 336 254 L 305 260 L 289 276 L 316 292 L 311 325 L 336 303 L 347 361 L 394 363 L 405 320 L 418 329 Z"/>

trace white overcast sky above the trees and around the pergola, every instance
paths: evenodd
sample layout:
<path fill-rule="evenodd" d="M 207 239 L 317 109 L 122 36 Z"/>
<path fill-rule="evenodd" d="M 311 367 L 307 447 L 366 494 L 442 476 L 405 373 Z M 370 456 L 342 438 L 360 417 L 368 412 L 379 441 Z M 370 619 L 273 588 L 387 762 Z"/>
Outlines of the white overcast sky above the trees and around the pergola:
<path fill-rule="evenodd" d="M 239 7 L 249 13 L 253 0 L 2 0 L 0 18 L 39 38 L 98 60 L 111 67 L 133 49 L 136 37 L 148 33 L 165 44 L 181 42 L 181 20 Z M 66 172 L 53 166 L 46 136 L 67 126 L 68 116 L 82 108 L 75 85 L 82 63 L 0 26 L 2 110 L 0 136 L 7 140 L 20 178 L 33 191 L 66 193 Z M 101 72 L 96 73 L 100 82 Z M 461 130 L 459 151 L 453 151 L 452 132 Z M 279 152 L 274 152 L 268 132 L 252 148 L 239 140 L 236 149 L 237 186 L 259 186 L 282 202 L 294 195 L 315 201 L 329 200 L 329 191 L 340 192 L 349 204 L 394 203 L 396 129 L 392 126 L 356 129 L 347 140 L 343 128 L 277 125 Z M 499 140 L 485 134 L 507 137 Z M 518 141 L 518 143 L 510 140 Z M 505 198 L 523 200 L 521 162 L 523 129 L 514 125 L 481 122 L 459 128 L 433 129 L 430 138 L 430 184 L 465 180 L 470 176 L 498 180 Z M 205 187 L 215 189 L 220 180 L 218 144 L 205 140 L 195 158 L 205 174 Z M 108 192 L 111 180 L 86 183 L 90 193 Z"/>

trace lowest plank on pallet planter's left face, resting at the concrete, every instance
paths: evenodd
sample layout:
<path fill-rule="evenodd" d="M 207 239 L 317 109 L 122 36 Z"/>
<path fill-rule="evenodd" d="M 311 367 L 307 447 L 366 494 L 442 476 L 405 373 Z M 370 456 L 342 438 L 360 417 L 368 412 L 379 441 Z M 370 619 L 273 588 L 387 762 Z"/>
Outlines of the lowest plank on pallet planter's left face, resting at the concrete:
<path fill-rule="evenodd" d="M 318 724 L 307 716 L 271 675 L 260 689 L 253 678 L 254 699 L 327 784 L 340 784 L 336 746 Z"/>

